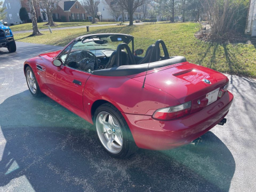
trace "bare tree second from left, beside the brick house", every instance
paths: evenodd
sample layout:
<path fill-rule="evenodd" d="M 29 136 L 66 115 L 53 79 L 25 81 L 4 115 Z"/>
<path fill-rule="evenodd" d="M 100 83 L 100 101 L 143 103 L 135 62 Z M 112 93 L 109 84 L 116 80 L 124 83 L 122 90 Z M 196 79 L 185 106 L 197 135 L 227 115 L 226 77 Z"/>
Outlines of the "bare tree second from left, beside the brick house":
<path fill-rule="evenodd" d="M 52 11 L 56 10 L 60 1 L 61 0 L 39 0 L 40 8 L 46 12 L 48 17 L 48 23 L 45 25 L 56 26 L 52 19 Z"/>

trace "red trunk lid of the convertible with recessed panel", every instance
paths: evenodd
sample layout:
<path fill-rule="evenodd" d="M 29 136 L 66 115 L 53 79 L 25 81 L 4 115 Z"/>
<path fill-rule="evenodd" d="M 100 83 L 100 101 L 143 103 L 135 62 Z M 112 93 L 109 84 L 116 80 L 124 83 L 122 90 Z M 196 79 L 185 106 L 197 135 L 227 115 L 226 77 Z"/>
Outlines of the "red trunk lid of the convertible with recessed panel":
<path fill-rule="evenodd" d="M 133 79 L 143 83 L 145 76 Z M 211 81 L 211 84 L 205 83 L 204 79 Z M 145 87 L 147 84 L 154 86 L 169 93 L 180 103 L 184 103 L 206 95 L 227 82 L 228 78 L 220 72 L 187 62 L 176 67 L 171 65 L 169 68 L 148 73 Z"/>

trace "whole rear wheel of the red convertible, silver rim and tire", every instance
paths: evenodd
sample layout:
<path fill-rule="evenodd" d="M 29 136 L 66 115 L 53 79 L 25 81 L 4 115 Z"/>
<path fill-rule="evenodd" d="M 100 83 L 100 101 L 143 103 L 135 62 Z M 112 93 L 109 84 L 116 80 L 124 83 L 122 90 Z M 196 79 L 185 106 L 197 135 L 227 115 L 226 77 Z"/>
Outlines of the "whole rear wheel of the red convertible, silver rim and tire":
<path fill-rule="evenodd" d="M 124 159 L 136 151 L 131 131 L 118 109 L 103 104 L 96 109 L 94 117 L 100 144 L 110 156 Z"/>

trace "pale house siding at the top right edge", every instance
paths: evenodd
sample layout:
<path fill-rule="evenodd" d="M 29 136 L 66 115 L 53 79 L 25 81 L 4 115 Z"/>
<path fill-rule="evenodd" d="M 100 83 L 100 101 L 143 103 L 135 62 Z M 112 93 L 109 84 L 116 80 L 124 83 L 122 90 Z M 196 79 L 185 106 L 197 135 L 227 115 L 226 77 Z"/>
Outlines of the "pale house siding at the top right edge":
<path fill-rule="evenodd" d="M 256 36 L 256 2 L 250 0 L 250 9 L 246 19 L 245 34 Z"/>

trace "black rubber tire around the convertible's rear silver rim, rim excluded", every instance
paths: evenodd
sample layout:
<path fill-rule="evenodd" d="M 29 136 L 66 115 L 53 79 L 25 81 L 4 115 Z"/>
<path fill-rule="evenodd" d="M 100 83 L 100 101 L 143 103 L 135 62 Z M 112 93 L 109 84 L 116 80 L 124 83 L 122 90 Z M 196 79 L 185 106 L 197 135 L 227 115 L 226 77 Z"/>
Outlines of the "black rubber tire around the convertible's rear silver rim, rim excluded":
<path fill-rule="evenodd" d="M 116 109 L 115 106 L 113 106 L 112 104 L 106 103 L 106 104 L 102 104 L 101 106 L 99 106 L 99 108 L 96 109 L 96 111 L 93 115 L 94 123 L 96 122 L 97 115 L 102 111 L 106 111 L 107 113 L 112 115 L 116 119 L 118 124 L 120 125 L 121 131 L 122 131 L 122 136 L 123 136 L 123 145 L 122 145 L 122 150 L 120 152 L 118 152 L 118 154 L 113 154 L 113 153 L 109 152 L 109 150 L 104 147 L 104 145 L 100 141 L 99 134 L 97 133 L 100 145 L 104 148 L 104 150 L 111 157 L 115 157 L 117 159 L 125 159 L 125 158 L 131 156 L 132 154 L 134 154 L 134 152 L 136 152 L 136 150 L 138 150 L 138 147 L 136 146 L 136 144 L 134 142 L 132 133 L 127 125 L 127 122 L 125 122 L 124 116 L 122 116 L 120 111 L 118 111 L 118 109 Z M 97 124 L 95 123 L 95 127 L 96 126 L 97 126 Z M 96 129 L 97 129 L 97 127 L 96 127 Z"/>

